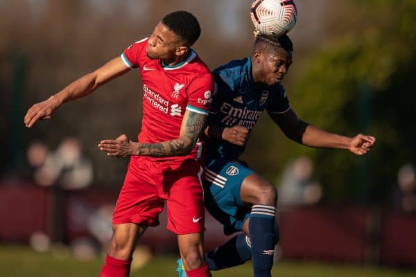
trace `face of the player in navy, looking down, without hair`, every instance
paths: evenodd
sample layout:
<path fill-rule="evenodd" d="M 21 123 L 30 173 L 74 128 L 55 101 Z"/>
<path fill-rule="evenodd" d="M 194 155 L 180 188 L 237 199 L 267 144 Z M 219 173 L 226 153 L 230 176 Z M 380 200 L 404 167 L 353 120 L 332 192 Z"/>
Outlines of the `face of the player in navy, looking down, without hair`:
<path fill-rule="evenodd" d="M 277 84 L 288 73 L 291 63 L 292 55 L 284 49 L 279 49 L 276 53 L 263 54 L 260 62 L 260 81 L 268 85 Z"/>

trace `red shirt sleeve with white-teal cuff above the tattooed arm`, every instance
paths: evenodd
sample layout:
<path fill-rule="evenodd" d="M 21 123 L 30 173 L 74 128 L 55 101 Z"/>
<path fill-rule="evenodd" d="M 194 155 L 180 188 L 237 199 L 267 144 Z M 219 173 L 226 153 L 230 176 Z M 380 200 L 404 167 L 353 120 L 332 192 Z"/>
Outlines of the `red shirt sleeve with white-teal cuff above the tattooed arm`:
<path fill-rule="evenodd" d="M 214 79 L 210 73 L 195 78 L 187 89 L 189 111 L 198 114 L 209 114 L 211 108 L 212 94 L 214 91 Z"/>

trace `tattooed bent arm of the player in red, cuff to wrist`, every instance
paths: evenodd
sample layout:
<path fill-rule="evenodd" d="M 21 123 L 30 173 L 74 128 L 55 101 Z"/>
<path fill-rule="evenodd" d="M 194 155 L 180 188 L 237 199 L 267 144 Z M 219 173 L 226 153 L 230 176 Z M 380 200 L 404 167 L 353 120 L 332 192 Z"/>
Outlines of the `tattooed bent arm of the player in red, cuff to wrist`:
<path fill-rule="evenodd" d="M 191 152 L 205 126 L 207 116 L 189 111 L 184 134 L 178 139 L 162 143 L 139 143 L 139 155 L 153 157 L 186 156 Z"/>

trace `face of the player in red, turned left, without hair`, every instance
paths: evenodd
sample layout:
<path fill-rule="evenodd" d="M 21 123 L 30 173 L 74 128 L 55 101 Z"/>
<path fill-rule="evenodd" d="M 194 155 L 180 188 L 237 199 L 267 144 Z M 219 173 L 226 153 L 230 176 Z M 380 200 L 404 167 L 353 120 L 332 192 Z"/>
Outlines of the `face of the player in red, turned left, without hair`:
<path fill-rule="evenodd" d="M 180 38 L 175 33 L 159 22 L 148 39 L 146 53 L 150 59 L 160 59 L 170 63 L 176 58 L 180 42 Z"/>

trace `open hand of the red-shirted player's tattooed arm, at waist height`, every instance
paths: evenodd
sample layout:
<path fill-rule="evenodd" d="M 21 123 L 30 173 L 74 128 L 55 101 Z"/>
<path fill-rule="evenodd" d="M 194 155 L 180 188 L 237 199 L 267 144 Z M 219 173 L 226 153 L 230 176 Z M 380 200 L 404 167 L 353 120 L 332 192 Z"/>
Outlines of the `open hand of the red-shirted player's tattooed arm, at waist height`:
<path fill-rule="evenodd" d="M 98 148 L 103 152 L 107 152 L 107 156 L 125 158 L 135 154 L 137 150 L 136 144 L 130 141 L 125 134 L 122 134 L 117 139 L 101 141 L 98 143 Z"/>

